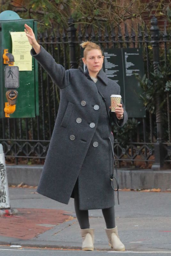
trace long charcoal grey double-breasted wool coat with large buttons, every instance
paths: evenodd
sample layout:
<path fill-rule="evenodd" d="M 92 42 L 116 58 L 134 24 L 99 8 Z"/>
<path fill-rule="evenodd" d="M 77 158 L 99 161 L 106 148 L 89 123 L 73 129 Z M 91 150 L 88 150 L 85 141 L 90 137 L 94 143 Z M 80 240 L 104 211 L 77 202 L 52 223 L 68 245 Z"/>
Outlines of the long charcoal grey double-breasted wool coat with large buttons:
<path fill-rule="evenodd" d="M 97 86 L 106 98 L 114 124 L 121 127 L 128 119 L 125 109 L 123 119 L 118 120 L 109 108 L 110 96 L 120 94 L 120 86 L 102 69 L 96 84 L 88 70 L 65 70 L 42 46 L 39 54 L 32 49 L 31 55 L 60 88 L 58 115 L 37 192 L 68 204 L 78 179 L 80 210 L 112 207 L 113 158 L 108 138 L 113 143 L 113 134 Z"/>

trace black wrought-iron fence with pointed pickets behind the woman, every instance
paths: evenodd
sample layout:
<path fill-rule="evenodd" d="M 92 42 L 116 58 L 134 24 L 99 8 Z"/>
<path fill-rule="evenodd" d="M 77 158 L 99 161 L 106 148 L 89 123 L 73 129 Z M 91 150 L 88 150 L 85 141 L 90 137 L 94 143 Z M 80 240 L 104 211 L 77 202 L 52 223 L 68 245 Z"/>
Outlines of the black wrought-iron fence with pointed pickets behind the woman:
<path fill-rule="evenodd" d="M 150 24 L 149 24 L 150 25 Z M 91 25 L 75 28 L 74 21 L 68 21 L 68 28 L 52 30 L 39 35 L 39 43 L 51 53 L 56 62 L 67 68 L 78 68 L 81 64 L 82 41 L 91 40 L 104 48 L 143 47 L 144 67 L 147 78 L 157 74 L 159 64 L 167 64 L 171 49 L 169 27 L 164 24 L 159 30 L 157 19 L 147 26 L 135 25 L 124 33 L 120 26 L 106 27 Z M 129 32 L 128 32 L 129 31 Z M 169 31 L 169 32 L 168 32 Z M 50 34 L 50 35 L 49 35 Z M 170 61 L 171 63 L 171 61 Z M 153 86 L 157 86 L 154 79 Z M 115 129 L 114 152 L 120 166 L 148 166 L 162 168 L 171 163 L 170 93 L 154 93 L 155 114 L 147 111 L 146 118 L 129 118 L 128 123 Z M 164 99 L 164 101 L 162 101 Z M 59 106 L 59 90 L 39 65 L 39 110 L 35 118 L 1 118 L 0 143 L 8 163 L 43 164 L 51 140 Z M 162 107 L 161 107 L 162 104 Z"/>

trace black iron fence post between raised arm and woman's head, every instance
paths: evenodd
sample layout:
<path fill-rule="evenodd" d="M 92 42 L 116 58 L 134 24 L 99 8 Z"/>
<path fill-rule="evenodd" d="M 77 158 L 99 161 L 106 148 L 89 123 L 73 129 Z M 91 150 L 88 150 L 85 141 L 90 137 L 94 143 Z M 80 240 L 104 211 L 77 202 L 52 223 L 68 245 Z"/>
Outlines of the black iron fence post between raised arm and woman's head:
<path fill-rule="evenodd" d="M 76 38 L 76 28 L 74 27 L 74 20 L 71 17 L 68 20 L 68 42 L 69 42 L 69 56 L 70 56 L 70 68 L 77 68 L 77 62 L 75 58 L 75 38 Z"/>

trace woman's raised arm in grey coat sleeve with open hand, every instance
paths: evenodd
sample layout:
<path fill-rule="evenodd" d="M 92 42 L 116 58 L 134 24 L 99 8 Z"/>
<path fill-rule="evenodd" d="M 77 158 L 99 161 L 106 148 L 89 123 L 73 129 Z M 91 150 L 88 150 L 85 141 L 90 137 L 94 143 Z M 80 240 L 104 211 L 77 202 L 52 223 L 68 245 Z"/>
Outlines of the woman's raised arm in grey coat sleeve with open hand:
<path fill-rule="evenodd" d="M 35 34 L 27 24 L 25 24 L 26 36 L 29 43 L 32 45 L 31 55 L 40 63 L 40 65 L 51 76 L 52 81 L 60 88 L 63 89 L 70 84 L 71 72 L 57 64 L 51 54 L 47 52 L 35 39 Z"/>

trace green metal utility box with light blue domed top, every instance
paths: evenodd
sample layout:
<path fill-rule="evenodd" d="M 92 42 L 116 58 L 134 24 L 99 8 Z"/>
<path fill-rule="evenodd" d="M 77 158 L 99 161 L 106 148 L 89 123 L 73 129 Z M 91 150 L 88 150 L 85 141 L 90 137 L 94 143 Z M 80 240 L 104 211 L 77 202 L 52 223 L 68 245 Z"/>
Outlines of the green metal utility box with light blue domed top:
<path fill-rule="evenodd" d="M 12 53 L 15 47 L 15 40 L 12 41 L 11 32 L 24 32 L 24 24 L 27 24 L 31 27 L 37 36 L 37 24 L 35 20 L 21 19 L 16 12 L 4 11 L 0 13 L 0 118 L 5 117 L 4 107 L 5 102 L 8 102 L 6 99 L 7 88 L 5 88 L 5 67 L 8 64 L 4 64 L 3 54 L 4 49 L 8 49 L 8 52 Z M 13 33 L 17 34 L 17 33 Z M 20 33 L 20 36 L 24 36 Z M 24 42 L 21 43 L 21 48 L 24 49 Z M 23 44 L 23 45 L 22 45 Z M 16 46 L 17 48 L 17 46 Z M 20 53 L 18 46 L 18 54 L 20 54 L 20 67 L 23 63 L 23 67 L 27 67 L 28 59 L 30 58 L 29 54 L 24 55 L 24 51 Z M 18 92 L 16 100 L 16 110 L 13 114 L 10 114 L 10 118 L 21 118 L 21 117 L 35 117 L 39 115 L 39 105 L 38 105 L 38 66 L 34 58 L 31 58 L 32 61 L 29 61 L 30 70 L 20 70 L 19 68 L 19 87 L 16 88 Z M 30 60 L 30 59 L 29 59 Z M 14 66 L 17 66 L 15 63 L 14 55 Z M 32 66 L 32 67 L 31 67 Z M 10 71 L 11 72 L 11 71 Z"/>

